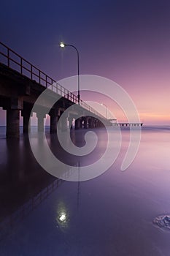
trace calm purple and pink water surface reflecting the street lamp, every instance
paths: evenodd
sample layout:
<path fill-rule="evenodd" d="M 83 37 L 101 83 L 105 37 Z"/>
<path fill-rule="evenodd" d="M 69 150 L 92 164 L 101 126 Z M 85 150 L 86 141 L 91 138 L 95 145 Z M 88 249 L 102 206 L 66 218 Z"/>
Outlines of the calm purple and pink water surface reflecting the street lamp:
<path fill-rule="evenodd" d="M 104 152 L 105 131 L 96 133 L 97 150 L 79 159 L 82 165 Z M 28 138 L 6 140 L 1 127 L 0 255 L 169 256 L 170 232 L 152 220 L 170 213 L 170 127 L 143 127 L 139 152 L 125 172 L 120 165 L 129 132 L 122 134 L 115 164 L 98 178 L 78 183 L 50 176 L 34 159 Z M 81 131 L 72 136 L 83 144 Z M 62 158 L 55 136 L 47 140 Z"/>

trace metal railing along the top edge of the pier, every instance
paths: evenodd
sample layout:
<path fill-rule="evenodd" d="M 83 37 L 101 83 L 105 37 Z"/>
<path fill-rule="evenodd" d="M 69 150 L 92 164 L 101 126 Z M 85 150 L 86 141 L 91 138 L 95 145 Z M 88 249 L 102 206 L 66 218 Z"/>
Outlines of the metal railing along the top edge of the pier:
<path fill-rule="evenodd" d="M 61 95 L 62 97 L 69 99 L 71 102 L 78 104 L 78 97 L 74 95 L 71 91 L 67 90 L 61 84 L 57 83 L 53 78 L 50 78 L 49 75 L 42 72 L 40 69 L 35 67 L 26 59 L 23 59 L 18 53 L 15 53 L 14 50 L 4 45 L 4 43 L 0 42 L 0 63 L 5 64 L 7 67 L 18 71 L 21 75 L 26 75 L 27 78 L 31 80 L 35 80 L 36 83 L 39 83 L 41 86 L 45 86 L 46 88 L 50 87 L 52 91 Z M 90 107 L 87 103 L 80 99 L 79 105 L 85 110 L 90 111 L 91 113 L 95 114 L 98 117 L 101 117 L 105 120 L 101 113 L 98 113 L 95 109 Z"/>

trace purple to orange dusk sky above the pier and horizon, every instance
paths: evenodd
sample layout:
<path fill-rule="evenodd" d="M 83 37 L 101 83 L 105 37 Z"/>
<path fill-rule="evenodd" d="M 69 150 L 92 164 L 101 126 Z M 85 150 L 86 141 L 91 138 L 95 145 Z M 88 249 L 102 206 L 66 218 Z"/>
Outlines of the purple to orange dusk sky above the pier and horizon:
<path fill-rule="evenodd" d="M 61 50 L 63 41 L 79 50 L 80 74 L 109 78 L 128 92 L 144 124 L 170 124 L 170 1 L 7 0 L 0 24 L 1 42 L 55 80 L 77 75 L 76 53 Z"/>

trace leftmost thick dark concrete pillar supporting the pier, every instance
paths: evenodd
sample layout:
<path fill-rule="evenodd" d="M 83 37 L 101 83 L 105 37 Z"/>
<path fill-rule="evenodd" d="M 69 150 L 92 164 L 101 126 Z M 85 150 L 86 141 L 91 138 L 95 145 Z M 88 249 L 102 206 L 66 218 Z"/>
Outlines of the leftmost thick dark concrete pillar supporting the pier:
<path fill-rule="evenodd" d="M 20 110 L 7 110 L 7 138 L 20 137 Z"/>

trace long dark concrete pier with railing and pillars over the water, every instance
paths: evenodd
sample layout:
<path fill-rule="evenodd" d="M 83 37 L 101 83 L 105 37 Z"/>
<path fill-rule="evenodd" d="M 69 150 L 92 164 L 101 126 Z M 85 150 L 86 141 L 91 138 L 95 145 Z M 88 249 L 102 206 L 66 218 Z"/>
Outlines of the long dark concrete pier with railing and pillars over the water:
<path fill-rule="evenodd" d="M 72 105 L 78 105 L 79 111 L 75 108 L 74 111 L 67 114 L 61 121 L 61 130 L 65 130 L 67 122 L 72 124 L 73 120 L 75 120 L 75 129 L 112 125 L 109 119 L 104 118 L 82 100 L 79 101 L 76 95 L 2 42 L 0 42 L 0 57 L 0 106 L 7 110 L 7 138 L 18 138 L 20 135 L 20 111 L 23 116 L 23 132 L 29 132 L 31 110 L 36 99 L 47 88 L 50 88 L 50 97 L 53 97 L 53 94 L 58 94 L 61 99 L 53 105 L 49 113 L 46 112 L 47 102 L 41 106 L 44 109 L 44 114 L 36 113 L 38 131 L 44 131 L 44 118 L 46 114 L 49 114 L 50 133 L 57 132 L 59 118 Z M 80 112 L 82 117 L 78 116 Z"/>

